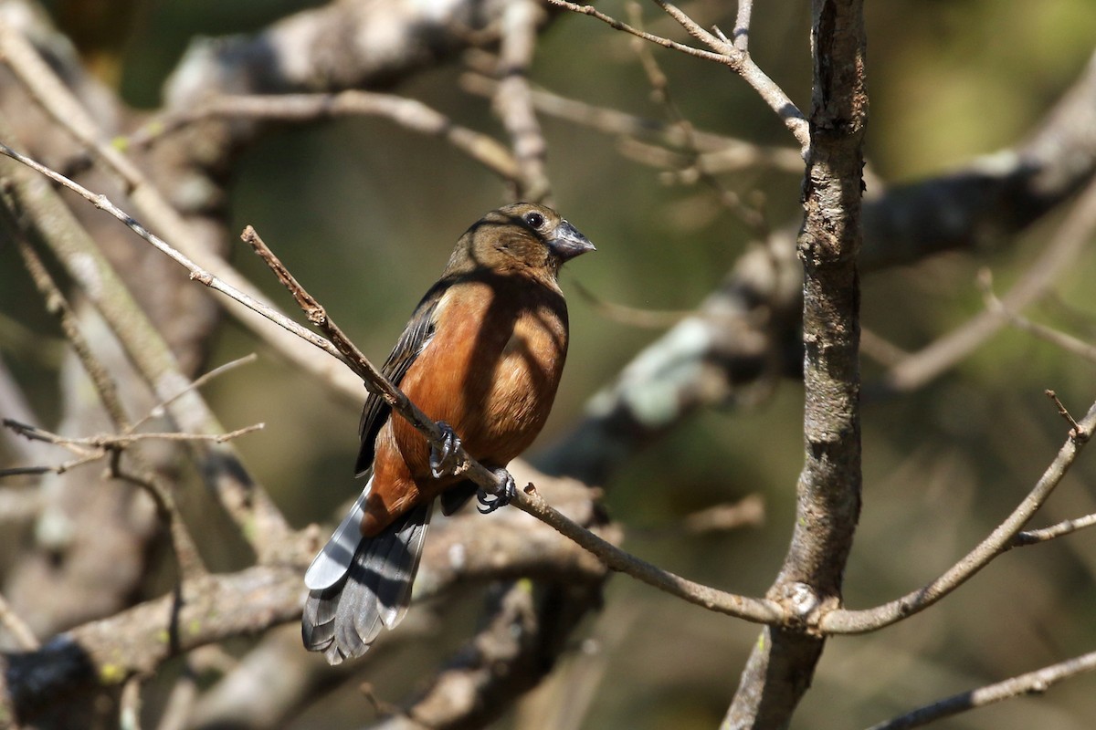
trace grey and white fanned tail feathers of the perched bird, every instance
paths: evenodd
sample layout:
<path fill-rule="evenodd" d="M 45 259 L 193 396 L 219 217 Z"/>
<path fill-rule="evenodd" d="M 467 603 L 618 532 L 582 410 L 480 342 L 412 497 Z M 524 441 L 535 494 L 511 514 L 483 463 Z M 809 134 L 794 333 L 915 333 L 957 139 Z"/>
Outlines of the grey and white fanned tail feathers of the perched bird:
<path fill-rule="evenodd" d="M 398 518 L 375 537 L 363 537 L 339 582 L 309 591 L 301 634 L 305 648 L 328 662 L 361 657 L 380 633 L 395 628 L 411 603 L 411 583 L 426 538 L 433 500 Z"/>

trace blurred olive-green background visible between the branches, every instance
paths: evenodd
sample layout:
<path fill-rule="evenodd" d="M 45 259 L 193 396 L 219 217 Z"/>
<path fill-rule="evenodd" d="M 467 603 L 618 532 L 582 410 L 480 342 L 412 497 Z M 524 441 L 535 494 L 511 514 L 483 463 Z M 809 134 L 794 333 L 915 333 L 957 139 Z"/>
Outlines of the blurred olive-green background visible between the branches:
<path fill-rule="evenodd" d="M 155 109 L 187 45 L 198 36 L 255 33 L 310 4 L 289 0 L 157 0 L 46 3 L 88 49 L 96 73 L 135 107 Z M 617 1 L 598 3 L 617 18 Z M 652 5 L 649 30 L 683 37 Z M 683 8 L 701 25 L 729 30 L 733 3 Z M 905 0 L 867 3 L 871 114 L 867 158 L 872 184 L 898 185 L 945 173 L 1023 141 L 1074 83 L 1096 47 L 1091 0 L 1000 3 Z M 110 19 L 101 26 L 89 20 Z M 117 14 L 112 14 L 117 13 Z M 757 3 L 750 50 L 799 105 L 810 104 L 810 19 L 803 3 Z M 82 35 L 81 32 L 82 31 Z M 794 148 L 756 93 L 727 69 L 654 49 L 669 91 L 697 129 L 757 144 Z M 502 139 L 488 99 L 467 93 L 459 60 L 391 89 L 454 121 Z M 562 15 L 545 31 L 534 82 L 569 99 L 664 120 L 632 39 L 591 18 Z M 571 350 L 551 420 L 534 447 L 549 447 L 584 404 L 664 329 L 604 314 L 580 287 L 640 310 L 689 311 L 718 287 L 754 230 L 703 185 L 670 183 L 620 140 L 541 118 L 558 209 L 596 245 L 568 266 Z M 492 174 L 444 141 L 375 118 L 284 128 L 247 149 L 230 171 L 230 230 L 254 225 L 359 347 L 381 361 L 419 297 L 444 267 L 453 242 L 484 211 L 506 201 Z M 797 223 L 801 175 L 752 167 L 720 177 L 756 202 L 773 229 Z M 975 280 L 987 268 L 1004 292 L 1039 259 L 1069 206 L 1018 236 L 973 250 L 866 273 L 863 324 L 917 350 L 984 309 Z M 59 359 L 53 321 L 21 264 L 0 250 L 0 348 L 36 412 L 58 410 Z M 233 263 L 286 310 L 292 302 L 238 244 Z M 1085 246 L 1026 313 L 1096 340 L 1096 254 Z M 357 486 L 352 479 L 358 410 L 264 350 L 226 320 L 209 357 L 219 364 L 258 351 L 259 361 L 207 393 L 228 428 L 262 421 L 238 441 L 248 466 L 294 526 L 329 521 Z M 866 607 L 937 577 L 983 538 L 1034 485 L 1065 439 L 1043 391 L 1077 417 L 1096 398 L 1096 363 L 1005 327 L 970 357 L 906 393 L 877 387 L 886 372 L 865 358 L 864 509 L 845 577 L 850 607 Z M 784 559 L 802 462 L 802 387 L 786 379 L 750 405 L 690 417 L 630 459 L 603 485 L 625 547 L 721 589 L 760 595 Z M 697 510 L 749 495 L 764 499 L 760 526 L 693 536 L 675 529 Z M 1084 454 L 1038 524 L 1096 512 L 1096 459 Z M 216 553 L 216 547 L 212 548 Z M 231 556 L 221 556 L 225 565 Z M 217 566 L 217 559 L 210 560 Z M 312 708 L 294 728 L 359 727 L 372 717 L 357 694 L 368 679 L 398 702 L 475 621 L 467 598 L 441 638 L 411 657 L 373 664 L 344 683 L 336 702 Z M 829 641 L 794 727 L 871 725 L 956 692 L 1000 681 L 1096 648 L 1096 534 L 1081 532 L 997 559 L 940 605 L 878 634 Z M 452 625 L 450 625 L 452 623 Z M 589 706 L 573 727 L 653 730 L 711 728 L 737 686 L 755 626 L 686 605 L 629 578 L 610 579 L 605 605 L 573 637 L 566 662 L 589 662 Z M 400 664 L 399 662 L 403 662 Z M 408 662 L 422 662 L 409 664 Z M 395 677 L 386 682 L 386 676 Z M 940 723 L 948 728 L 1093 727 L 1096 679 L 1081 676 L 1043 696 L 1009 700 Z M 149 700 L 155 705 L 153 700 Z M 515 711 L 499 727 L 538 727 Z"/>

